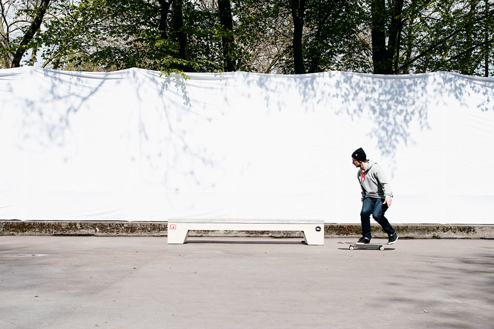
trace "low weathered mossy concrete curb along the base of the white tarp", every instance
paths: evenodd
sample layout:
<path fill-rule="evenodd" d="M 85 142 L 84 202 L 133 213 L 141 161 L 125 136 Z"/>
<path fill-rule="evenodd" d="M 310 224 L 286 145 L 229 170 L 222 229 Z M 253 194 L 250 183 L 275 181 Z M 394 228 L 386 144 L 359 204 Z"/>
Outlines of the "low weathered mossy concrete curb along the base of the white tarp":
<path fill-rule="evenodd" d="M 400 238 L 409 239 L 494 239 L 494 225 L 393 224 Z M 372 236 L 385 238 L 378 224 L 371 225 Z M 0 220 L 0 235 L 86 235 L 86 236 L 166 236 L 164 221 L 52 221 Z M 325 224 L 325 238 L 357 237 L 360 224 Z M 299 237 L 291 231 L 192 231 L 189 236 Z"/>

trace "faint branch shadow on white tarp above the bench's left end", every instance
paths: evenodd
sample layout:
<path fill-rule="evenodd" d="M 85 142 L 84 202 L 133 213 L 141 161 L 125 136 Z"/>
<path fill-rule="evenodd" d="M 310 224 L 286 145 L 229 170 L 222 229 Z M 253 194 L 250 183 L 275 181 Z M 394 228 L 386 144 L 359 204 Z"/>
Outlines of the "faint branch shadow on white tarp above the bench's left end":
<path fill-rule="evenodd" d="M 175 73 L 161 75 L 147 70 L 136 73 L 139 75 L 135 79 L 138 157 L 148 169 L 148 176 L 142 178 L 150 184 L 163 184 L 176 193 L 184 188 L 176 181 L 177 175 L 196 187 L 213 187 L 214 177 L 204 171 L 215 168 L 217 159 L 208 146 L 198 148 L 193 140 L 194 132 L 190 131 L 209 124 L 212 118 L 204 109 L 194 108 L 188 88 L 190 80 Z M 156 103 L 146 103 L 147 97 Z"/>

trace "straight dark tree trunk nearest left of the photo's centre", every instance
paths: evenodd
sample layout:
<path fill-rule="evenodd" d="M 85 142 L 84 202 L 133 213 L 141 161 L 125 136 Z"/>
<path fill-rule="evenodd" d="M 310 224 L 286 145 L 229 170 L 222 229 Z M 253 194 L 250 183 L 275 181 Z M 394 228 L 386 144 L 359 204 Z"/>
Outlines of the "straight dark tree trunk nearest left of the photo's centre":
<path fill-rule="evenodd" d="M 237 71 L 235 68 L 235 56 L 233 54 L 233 19 L 230 0 L 218 0 L 219 22 L 223 28 L 221 43 L 223 46 L 223 69 L 225 72 Z"/>

